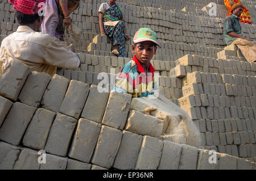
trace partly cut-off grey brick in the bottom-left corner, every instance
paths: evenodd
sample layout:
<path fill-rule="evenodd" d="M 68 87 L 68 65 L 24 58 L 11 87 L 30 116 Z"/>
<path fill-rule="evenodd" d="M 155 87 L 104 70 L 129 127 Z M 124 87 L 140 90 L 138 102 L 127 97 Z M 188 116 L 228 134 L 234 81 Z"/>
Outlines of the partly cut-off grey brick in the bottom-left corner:
<path fill-rule="evenodd" d="M 0 142 L 0 169 L 13 170 L 16 160 L 19 157 L 20 148 Z"/>

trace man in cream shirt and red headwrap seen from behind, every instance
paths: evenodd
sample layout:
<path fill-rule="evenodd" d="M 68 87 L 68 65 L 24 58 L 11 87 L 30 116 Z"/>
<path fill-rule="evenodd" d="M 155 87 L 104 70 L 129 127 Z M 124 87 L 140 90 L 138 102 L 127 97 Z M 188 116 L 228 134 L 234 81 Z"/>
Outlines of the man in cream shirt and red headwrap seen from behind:
<path fill-rule="evenodd" d="M 2 41 L 0 48 L 0 75 L 12 60 L 19 60 L 32 71 L 44 72 L 51 76 L 57 66 L 77 69 L 81 61 L 76 53 L 55 37 L 37 32 L 42 16 L 39 16 L 39 3 L 45 0 L 9 0 L 16 9 L 19 27 L 16 32 Z"/>

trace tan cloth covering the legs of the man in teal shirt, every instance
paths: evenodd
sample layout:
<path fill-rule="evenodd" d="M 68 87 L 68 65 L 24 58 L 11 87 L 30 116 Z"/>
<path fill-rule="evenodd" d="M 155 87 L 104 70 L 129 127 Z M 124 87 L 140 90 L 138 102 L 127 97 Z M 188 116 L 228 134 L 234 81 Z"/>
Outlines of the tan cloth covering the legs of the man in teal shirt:
<path fill-rule="evenodd" d="M 256 61 L 256 44 L 254 41 L 236 39 L 232 44 L 237 45 L 248 62 Z"/>

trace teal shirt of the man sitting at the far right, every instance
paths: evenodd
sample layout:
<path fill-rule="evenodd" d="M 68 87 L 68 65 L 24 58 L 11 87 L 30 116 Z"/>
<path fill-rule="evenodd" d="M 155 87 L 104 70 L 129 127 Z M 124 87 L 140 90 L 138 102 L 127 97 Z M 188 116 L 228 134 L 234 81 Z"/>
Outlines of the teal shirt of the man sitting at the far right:
<path fill-rule="evenodd" d="M 234 40 L 237 39 L 237 37 L 232 37 L 228 35 L 229 32 L 236 32 L 238 35 L 242 35 L 242 28 L 239 23 L 241 19 L 238 18 L 237 15 L 232 14 L 231 16 L 228 16 L 224 19 L 224 40 L 226 42 L 226 45 L 230 45 Z M 244 36 L 245 37 L 245 36 Z"/>

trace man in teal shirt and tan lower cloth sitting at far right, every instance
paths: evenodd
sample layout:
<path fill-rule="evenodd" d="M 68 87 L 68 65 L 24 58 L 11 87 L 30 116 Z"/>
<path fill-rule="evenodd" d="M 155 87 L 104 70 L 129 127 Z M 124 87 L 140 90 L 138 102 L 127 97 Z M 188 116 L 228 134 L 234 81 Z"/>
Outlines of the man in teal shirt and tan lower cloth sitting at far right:
<path fill-rule="evenodd" d="M 241 50 L 248 62 L 256 61 L 256 43 L 247 39 L 242 35 L 242 29 L 239 17 L 242 14 L 243 6 L 241 4 L 234 4 L 232 6 L 232 15 L 224 20 L 224 40 L 226 45 L 235 44 Z"/>

